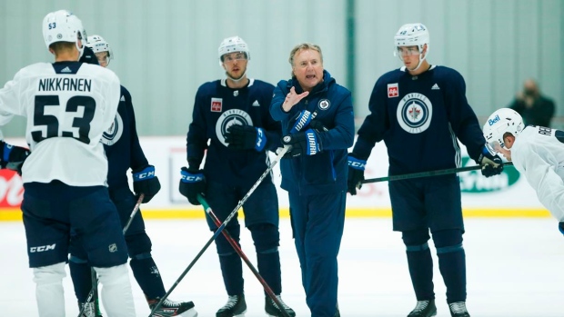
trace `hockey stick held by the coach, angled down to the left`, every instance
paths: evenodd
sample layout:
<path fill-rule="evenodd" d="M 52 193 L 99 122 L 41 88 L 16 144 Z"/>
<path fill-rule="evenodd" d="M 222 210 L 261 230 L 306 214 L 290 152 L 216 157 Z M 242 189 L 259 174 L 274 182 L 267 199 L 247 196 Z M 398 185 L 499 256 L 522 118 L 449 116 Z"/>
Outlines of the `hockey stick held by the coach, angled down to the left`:
<path fill-rule="evenodd" d="M 280 159 L 282 158 L 282 156 L 284 156 L 284 154 L 286 154 L 290 150 L 290 148 L 291 148 L 291 146 L 285 146 L 284 148 L 282 148 L 282 150 L 277 154 L 277 157 L 272 161 L 272 163 L 270 163 L 270 165 L 268 165 L 268 168 L 265 171 L 265 173 L 262 173 L 262 175 L 260 175 L 257 182 L 253 185 L 253 187 L 251 187 L 251 189 L 248 190 L 248 192 L 245 194 L 245 196 L 243 196 L 243 198 L 239 201 L 239 203 L 237 203 L 237 206 L 235 207 L 235 209 L 233 209 L 233 211 L 231 213 L 229 213 L 226 220 L 223 223 L 221 223 L 220 226 L 217 227 L 217 231 L 212 235 L 211 238 L 209 238 L 209 240 L 206 242 L 206 244 L 204 245 L 202 250 L 200 250 L 200 252 L 196 254 L 196 257 L 194 258 L 194 260 L 192 260 L 192 262 L 190 264 L 188 264 L 188 266 L 186 267 L 184 272 L 182 272 L 182 274 L 180 274 L 180 276 L 176 279 L 176 281 L 170 287 L 170 290 L 168 290 L 168 292 L 166 292 L 165 296 L 161 297 L 160 301 L 158 301 L 156 303 L 155 307 L 153 307 L 153 309 L 151 310 L 149 317 L 151 317 L 153 315 L 153 313 L 155 313 L 156 310 L 161 307 L 161 305 L 163 304 L 163 302 L 165 302 L 166 298 L 170 295 L 170 293 L 176 289 L 176 286 L 178 286 L 178 283 L 180 281 L 182 281 L 182 279 L 184 279 L 184 277 L 186 276 L 188 271 L 190 271 L 190 269 L 192 269 L 194 264 L 196 264 L 196 261 L 199 260 L 199 258 L 202 256 L 202 254 L 204 254 L 206 252 L 209 245 L 214 242 L 217 235 L 219 235 L 219 233 L 222 233 L 223 230 L 226 228 L 227 223 L 229 223 L 229 221 L 231 221 L 231 219 L 233 217 L 235 217 L 235 215 L 239 211 L 239 208 L 241 208 L 243 203 L 245 203 L 247 201 L 247 199 L 251 195 L 251 193 L 255 192 L 258 185 L 267 177 L 267 174 L 270 173 L 270 171 L 272 171 L 274 166 L 278 162 L 280 162 Z"/>

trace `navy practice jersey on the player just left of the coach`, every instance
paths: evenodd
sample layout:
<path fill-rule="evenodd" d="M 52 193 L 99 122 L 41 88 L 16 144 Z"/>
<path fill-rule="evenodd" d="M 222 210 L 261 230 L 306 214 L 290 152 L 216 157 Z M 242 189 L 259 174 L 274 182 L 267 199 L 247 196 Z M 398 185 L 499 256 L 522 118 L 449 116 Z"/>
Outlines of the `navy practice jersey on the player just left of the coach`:
<path fill-rule="evenodd" d="M 204 171 L 208 180 L 232 186 L 255 183 L 269 165 L 267 150 L 274 151 L 281 144 L 280 124 L 268 112 L 273 91 L 274 85 L 256 79 L 249 79 L 243 88 L 229 88 L 226 79 L 202 84 L 187 134 L 190 166 L 199 166 L 207 148 Z M 228 149 L 225 135 L 232 124 L 263 128 L 267 135 L 264 150 Z"/>

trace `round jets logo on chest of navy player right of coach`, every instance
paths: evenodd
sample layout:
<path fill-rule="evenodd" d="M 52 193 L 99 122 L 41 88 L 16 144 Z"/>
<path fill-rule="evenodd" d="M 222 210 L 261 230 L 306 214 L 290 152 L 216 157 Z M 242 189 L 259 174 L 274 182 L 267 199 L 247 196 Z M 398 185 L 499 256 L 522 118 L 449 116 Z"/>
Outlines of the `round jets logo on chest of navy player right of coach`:
<path fill-rule="evenodd" d="M 406 94 L 398 104 L 398 124 L 409 134 L 428 129 L 433 116 L 433 104 L 424 94 Z"/>

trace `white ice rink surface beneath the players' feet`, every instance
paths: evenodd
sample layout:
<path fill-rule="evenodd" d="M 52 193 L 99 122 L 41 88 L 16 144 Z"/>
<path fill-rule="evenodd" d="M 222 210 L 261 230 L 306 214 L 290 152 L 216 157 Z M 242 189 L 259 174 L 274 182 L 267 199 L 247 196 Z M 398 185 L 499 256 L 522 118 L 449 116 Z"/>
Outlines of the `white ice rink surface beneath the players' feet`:
<path fill-rule="evenodd" d="M 564 317 L 564 237 L 551 218 L 468 218 L 468 312 L 473 317 Z M 153 256 L 168 290 L 212 234 L 201 220 L 149 220 Z M 282 298 L 297 316 L 309 316 L 287 218 L 280 221 Z M 0 223 L 0 316 L 37 316 L 35 283 L 27 267 L 20 222 Z M 241 244 L 256 265 L 247 230 Z M 432 243 L 429 243 L 432 247 Z M 347 219 L 338 256 L 339 306 L 344 317 L 405 317 L 415 306 L 405 247 L 391 219 Z M 448 317 L 445 286 L 434 248 L 438 317 Z M 67 269 L 68 271 L 68 269 Z M 247 317 L 265 316 L 261 284 L 244 264 Z M 131 273 L 130 273 L 131 274 Z M 148 316 L 145 297 L 130 275 L 136 312 Z M 65 278 L 66 316 L 76 316 L 70 276 Z M 187 272 L 172 300 L 193 301 L 200 317 L 214 317 L 227 302 L 215 244 Z M 106 314 L 105 314 L 106 316 Z"/>

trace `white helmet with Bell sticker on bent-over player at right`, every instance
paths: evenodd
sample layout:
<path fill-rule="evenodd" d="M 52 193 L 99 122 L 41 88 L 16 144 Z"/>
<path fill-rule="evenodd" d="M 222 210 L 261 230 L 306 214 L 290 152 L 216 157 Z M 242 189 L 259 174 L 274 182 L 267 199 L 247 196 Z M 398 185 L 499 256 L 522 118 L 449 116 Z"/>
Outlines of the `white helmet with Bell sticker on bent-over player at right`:
<path fill-rule="evenodd" d="M 489 115 L 482 128 L 489 152 L 495 154 L 499 152 L 499 146 L 505 148 L 503 134 L 509 133 L 517 137 L 524 128 L 523 118 L 513 109 L 501 108 Z"/>

